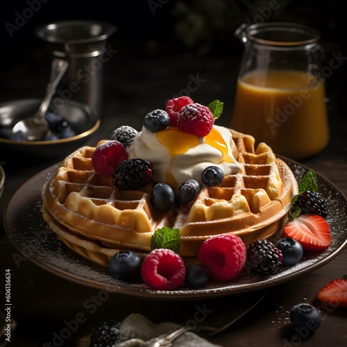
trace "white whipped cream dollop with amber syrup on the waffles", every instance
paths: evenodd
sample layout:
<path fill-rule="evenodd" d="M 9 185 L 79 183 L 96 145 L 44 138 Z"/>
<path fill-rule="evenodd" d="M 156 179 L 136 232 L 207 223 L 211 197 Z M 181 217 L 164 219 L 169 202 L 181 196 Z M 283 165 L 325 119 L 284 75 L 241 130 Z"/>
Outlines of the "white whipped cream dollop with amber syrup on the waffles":
<path fill-rule="evenodd" d="M 129 158 L 153 163 L 155 182 L 167 183 L 175 189 L 191 178 L 202 184 L 201 174 L 211 165 L 220 167 L 224 176 L 236 174 L 241 169 L 234 157 L 237 150 L 232 134 L 223 126 L 214 125 L 205 137 L 171 126 L 158 133 L 143 127 L 126 150 Z"/>

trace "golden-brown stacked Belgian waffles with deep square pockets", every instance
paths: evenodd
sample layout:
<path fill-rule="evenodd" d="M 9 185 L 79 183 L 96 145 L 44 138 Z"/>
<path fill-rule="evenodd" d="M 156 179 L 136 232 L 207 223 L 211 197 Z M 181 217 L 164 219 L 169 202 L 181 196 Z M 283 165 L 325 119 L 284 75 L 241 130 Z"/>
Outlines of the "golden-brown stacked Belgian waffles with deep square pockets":
<path fill-rule="evenodd" d="M 151 185 L 122 191 L 112 178 L 96 174 L 95 147 L 84 146 L 65 158 L 44 185 L 44 220 L 69 248 L 105 266 L 121 249 L 148 253 L 151 235 L 164 226 L 180 230 L 183 257 L 195 257 L 201 243 L 217 234 L 235 233 L 246 244 L 270 237 L 297 193 L 296 179 L 269 146 L 260 143 L 255 149 L 253 137 L 230 131 L 242 170 L 167 213 L 153 210 Z"/>

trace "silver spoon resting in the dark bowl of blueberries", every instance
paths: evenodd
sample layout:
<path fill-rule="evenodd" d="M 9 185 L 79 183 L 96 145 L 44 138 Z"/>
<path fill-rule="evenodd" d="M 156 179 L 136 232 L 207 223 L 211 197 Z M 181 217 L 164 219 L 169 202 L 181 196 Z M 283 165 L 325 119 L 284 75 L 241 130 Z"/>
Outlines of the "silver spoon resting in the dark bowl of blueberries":
<path fill-rule="evenodd" d="M 46 119 L 44 119 L 44 115 L 46 115 L 51 99 L 56 93 L 58 83 L 65 74 L 68 65 L 68 62 L 65 60 L 53 59 L 49 84 L 47 85 L 46 95 L 44 96 L 40 108 L 35 115 L 24 118 L 15 124 L 12 128 L 12 133 L 18 133 L 20 131 L 24 139 L 28 141 L 40 141 L 50 132 L 49 124 Z"/>

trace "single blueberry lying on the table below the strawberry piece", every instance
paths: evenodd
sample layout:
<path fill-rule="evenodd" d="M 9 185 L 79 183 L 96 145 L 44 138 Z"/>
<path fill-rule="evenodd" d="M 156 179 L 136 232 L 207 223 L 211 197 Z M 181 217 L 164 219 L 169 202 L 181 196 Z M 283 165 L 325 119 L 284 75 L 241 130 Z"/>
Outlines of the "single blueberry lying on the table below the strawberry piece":
<path fill-rule="evenodd" d="M 308 303 L 300 303 L 291 308 L 290 320 L 296 328 L 306 328 L 312 332 L 321 325 L 321 314 L 316 307 Z"/>

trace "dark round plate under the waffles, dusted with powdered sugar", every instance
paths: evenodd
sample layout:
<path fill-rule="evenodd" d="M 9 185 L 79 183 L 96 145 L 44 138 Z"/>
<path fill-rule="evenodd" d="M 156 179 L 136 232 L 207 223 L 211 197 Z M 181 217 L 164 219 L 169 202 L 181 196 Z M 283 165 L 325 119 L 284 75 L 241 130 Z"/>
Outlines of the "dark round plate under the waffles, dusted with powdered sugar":
<path fill-rule="evenodd" d="M 283 158 L 291 167 L 298 181 L 307 167 Z M 66 248 L 51 232 L 42 219 L 41 189 L 44 182 L 56 171 L 59 164 L 41 171 L 28 180 L 12 196 L 4 214 L 6 232 L 11 242 L 29 260 L 72 282 L 110 292 L 153 299 L 195 299 L 212 298 L 228 294 L 239 294 L 280 285 L 298 276 L 323 266 L 336 257 L 347 244 L 347 199 L 335 185 L 317 174 L 319 189 L 329 210 L 332 243 L 322 253 L 304 255 L 298 264 L 283 267 L 270 277 L 247 273 L 229 282 L 210 282 L 203 289 L 180 289 L 176 291 L 152 291 L 146 285 L 128 285 L 109 275 L 108 269 L 94 264 Z"/>

